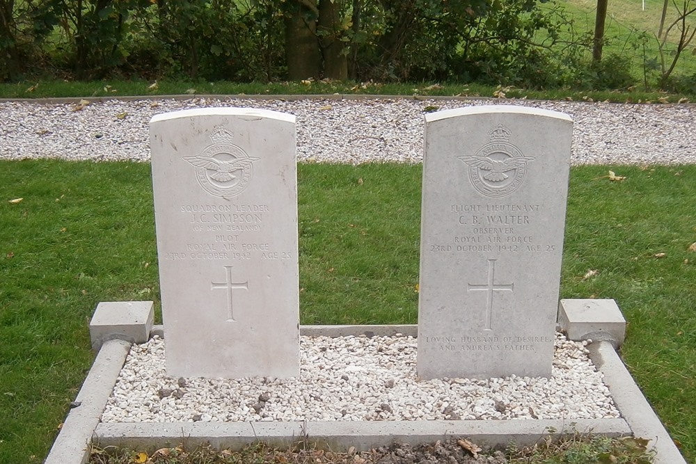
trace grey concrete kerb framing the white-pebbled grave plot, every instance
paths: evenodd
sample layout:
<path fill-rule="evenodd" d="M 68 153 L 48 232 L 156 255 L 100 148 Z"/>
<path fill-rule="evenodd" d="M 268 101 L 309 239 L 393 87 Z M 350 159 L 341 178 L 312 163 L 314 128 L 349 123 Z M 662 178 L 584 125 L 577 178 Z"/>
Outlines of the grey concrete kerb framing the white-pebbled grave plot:
<path fill-rule="evenodd" d="M 561 321 L 560 321 L 561 322 Z M 582 322 L 582 321 L 579 321 Z M 561 323 L 561 326 L 563 324 Z M 164 335 L 162 326 L 151 326 L 150 336 Z M 417 335 L 417 326 L 301 326 L 303 335 Z M 621 419 L 507 420 L 507 421 L 383 421 L 383 422 L 244 422 L 244 423 L 101 423 L 106 401 L 116 384 L 130 343 L 104 342 L 75 404 L 65 419 L 46 464 L 84 464 L 88 444 L 157 449 L 198 445 L 239 448 L 257 441 L 286 446 L 307 441 L 339 451 L 348 447 L 366 450 L 393 442 L 424 442 L 466 437 L 477 445 L 505 446 L 514 441 L 532 445 L 546 435 L 594 433 L 612 437 L 635 435 L 651 440 L 655 464 L 686 464 L 676 445 L 655 415 L 638 385 L 624 366 L 612 341 L 589 345 L 590 357 L 603 372 Z"/>

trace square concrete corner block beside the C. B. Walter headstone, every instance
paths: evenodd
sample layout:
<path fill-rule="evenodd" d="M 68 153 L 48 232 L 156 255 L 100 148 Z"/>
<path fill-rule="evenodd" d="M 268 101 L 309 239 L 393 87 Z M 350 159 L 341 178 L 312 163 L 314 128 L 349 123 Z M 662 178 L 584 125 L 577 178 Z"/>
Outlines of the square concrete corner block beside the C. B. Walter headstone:
<path fill-rule="evenodd" d="M 561 300 L 558 323 L 571 340 L 605 340 L 618 347 L 626 337 L 626 319 L 612 299 Z"/>

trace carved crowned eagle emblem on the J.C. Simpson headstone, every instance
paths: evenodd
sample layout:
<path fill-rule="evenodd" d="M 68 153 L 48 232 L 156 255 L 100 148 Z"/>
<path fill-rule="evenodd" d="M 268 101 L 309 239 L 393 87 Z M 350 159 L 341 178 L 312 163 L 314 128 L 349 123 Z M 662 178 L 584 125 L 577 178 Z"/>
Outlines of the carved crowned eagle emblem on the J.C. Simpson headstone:
<path fill-rule="evenodd" d="M 232 143 L 232 131 L 217 127 L 210 135 L 212 145 L 195 157 L 184 157 L 196 168 L 198 184 L 211 195 L 232 197 L 242 193 L 253 175 L 253 163 L 259 158 L 250 157 L 242 148 Z"/>

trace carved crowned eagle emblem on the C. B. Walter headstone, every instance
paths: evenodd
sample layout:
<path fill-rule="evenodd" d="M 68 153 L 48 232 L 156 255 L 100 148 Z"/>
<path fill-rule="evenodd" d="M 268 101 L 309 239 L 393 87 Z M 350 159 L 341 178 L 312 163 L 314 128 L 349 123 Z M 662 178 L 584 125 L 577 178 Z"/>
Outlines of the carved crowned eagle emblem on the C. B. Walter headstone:
<path fill-rule="evenodd" d="M 474 188 L 491 198 L 509 195 L 519 188 L 525 177 L 527 163 L 521 150 L 509 143 L 511 131 L 498 125 L 490 132 L 491 141 L 476 154 L 458 157 L 469 166 L 469 179 Z"/>

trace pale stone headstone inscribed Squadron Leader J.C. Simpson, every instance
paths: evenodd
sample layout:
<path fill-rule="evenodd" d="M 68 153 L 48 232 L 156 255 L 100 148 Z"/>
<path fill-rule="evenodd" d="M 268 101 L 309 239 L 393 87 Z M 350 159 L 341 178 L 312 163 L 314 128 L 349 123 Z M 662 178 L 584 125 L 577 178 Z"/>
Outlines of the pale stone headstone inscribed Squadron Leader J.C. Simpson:
<path fill-rule="evenodd" d="M 164 113 L 150 147 L 168 374 L 298 376 L 294 116 Z"/>

